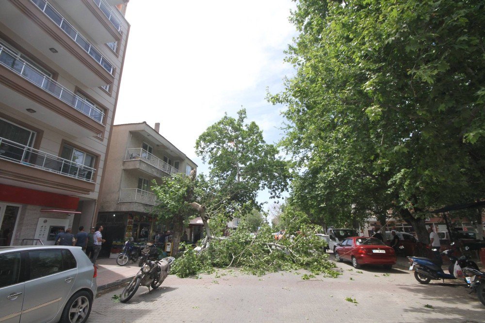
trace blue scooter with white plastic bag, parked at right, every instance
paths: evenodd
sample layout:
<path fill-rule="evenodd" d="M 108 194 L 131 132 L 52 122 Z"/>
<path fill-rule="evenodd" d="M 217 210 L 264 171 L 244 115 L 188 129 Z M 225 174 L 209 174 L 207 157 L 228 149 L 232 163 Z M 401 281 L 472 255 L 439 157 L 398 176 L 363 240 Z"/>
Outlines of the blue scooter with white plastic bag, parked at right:
<path fill-rule="evenodd" d="M 452 246 L 453 245 L 454 245 L 454 242 L 452 243 Z M 453 256 L 453 252 L 455 252 L 458 249 L 459 248 L 445 250 L 440 254 L 448 257 L 451 260 L 451 264 L 448 267 L 448 272 L 450 274 L 446 274 L 441 269 L 441 263 L 440 263 L 441 259 L 433 260 L 433 259 L 424 258 L 424 257 L 407 257 L 409 258 L 409 262 L 410 262 L 409 270 L 412 271 L 414 269 L 414 277 L 420 284 L 429 284 L 431 279 L 434 279 L 434 280 L 443 279 L 443 282 L 445 279 L 457 279 L 459 278 L 460 275 L 462 275 L 463 273 L 462 268 L 465 268 L 465 267 L 478 269 L 477 264 L 474 261 L 469 260 L 468 257 Z M 469 249 L 468 247 L 465 247 L 465 250 L 468 250 L 468 249 Z M 433 251 L 436 251 L 436 249 L 434 249 Z M 458 267 L 455 269 L 455 266 L 458 266 Z M 455 277 L 455 275 L 453 275 L 454 272 L 458 273 L 457 275 L 458 277 Z M 467 281 L 468 278 L 469 277 L 464 277 L 464 280 Z"/>

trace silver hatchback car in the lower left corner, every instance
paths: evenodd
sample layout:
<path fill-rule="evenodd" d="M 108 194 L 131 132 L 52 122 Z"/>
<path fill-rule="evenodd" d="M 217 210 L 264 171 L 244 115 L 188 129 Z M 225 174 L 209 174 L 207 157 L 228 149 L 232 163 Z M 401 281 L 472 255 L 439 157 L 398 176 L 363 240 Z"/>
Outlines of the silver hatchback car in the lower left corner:
<path fill-rule="evenodd" d="M 80 247 L 0 247 L 0 322 L 86 322 L 96 276 Z"/>

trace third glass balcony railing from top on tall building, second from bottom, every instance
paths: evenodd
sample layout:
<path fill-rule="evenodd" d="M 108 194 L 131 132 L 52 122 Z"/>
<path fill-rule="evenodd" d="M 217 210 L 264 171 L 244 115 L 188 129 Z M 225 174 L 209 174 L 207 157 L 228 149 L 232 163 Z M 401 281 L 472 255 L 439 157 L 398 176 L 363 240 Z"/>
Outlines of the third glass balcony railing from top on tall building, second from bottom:
<path fill-rule="evenodd" d="M 75 95 L 33 65 L 21 59 L 10 49 L 0 45 L 0 65 L 20 75 L 49 94 L 67 103 L 72 108 L 103 124 L 104 113 L 83 98 Z"/>

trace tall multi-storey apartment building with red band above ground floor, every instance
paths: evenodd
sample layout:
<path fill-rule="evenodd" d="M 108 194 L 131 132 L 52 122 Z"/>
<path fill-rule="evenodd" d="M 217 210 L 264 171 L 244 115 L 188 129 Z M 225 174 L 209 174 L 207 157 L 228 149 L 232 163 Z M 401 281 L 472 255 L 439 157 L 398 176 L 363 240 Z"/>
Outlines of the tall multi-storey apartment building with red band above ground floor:
<path fill-rule="evenodd" d="M 95 220 L 127 4 L 0 1 L 0 246 Z"/>

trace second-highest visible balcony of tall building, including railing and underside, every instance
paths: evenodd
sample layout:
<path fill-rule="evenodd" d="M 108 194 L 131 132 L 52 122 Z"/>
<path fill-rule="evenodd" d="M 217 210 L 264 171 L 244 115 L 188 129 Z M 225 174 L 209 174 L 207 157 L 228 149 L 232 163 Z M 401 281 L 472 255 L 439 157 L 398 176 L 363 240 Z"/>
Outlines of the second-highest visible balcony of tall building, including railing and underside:
<path fill-rule="evenodd" d="M 0 1 L 6 36 L 22 39 L 29 53 L 56 70 L 66 71 L 76 83 L 92 88 L 113 83 L 114 65 L 45 0 L 33 1 Z"/>

